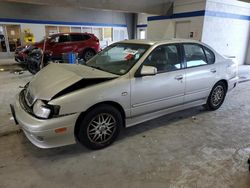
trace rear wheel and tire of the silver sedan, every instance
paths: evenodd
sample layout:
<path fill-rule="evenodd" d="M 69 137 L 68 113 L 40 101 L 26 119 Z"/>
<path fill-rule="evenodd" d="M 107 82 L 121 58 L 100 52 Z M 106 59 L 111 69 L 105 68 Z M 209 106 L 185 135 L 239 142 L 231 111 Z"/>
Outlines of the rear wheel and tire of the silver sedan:
<path fill-rule="evenodd" d="M 211 90 L 207 103 L 204 107 L 207 110 L 217 110 L 223 104 L 227 94 L 227 87 L 224 82 L 217 82 Z"/>

